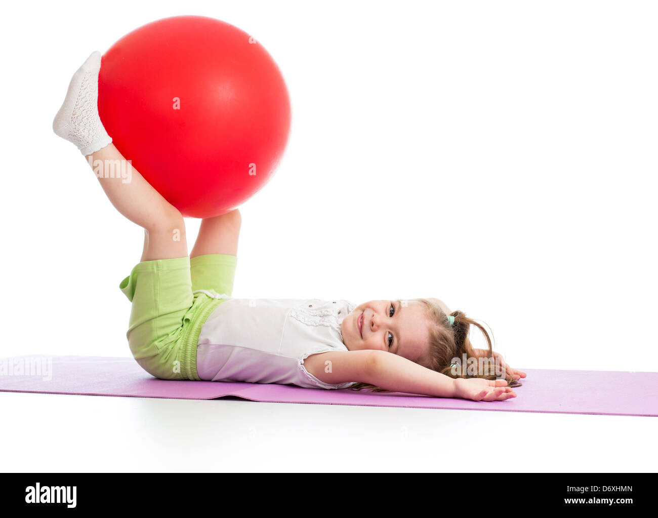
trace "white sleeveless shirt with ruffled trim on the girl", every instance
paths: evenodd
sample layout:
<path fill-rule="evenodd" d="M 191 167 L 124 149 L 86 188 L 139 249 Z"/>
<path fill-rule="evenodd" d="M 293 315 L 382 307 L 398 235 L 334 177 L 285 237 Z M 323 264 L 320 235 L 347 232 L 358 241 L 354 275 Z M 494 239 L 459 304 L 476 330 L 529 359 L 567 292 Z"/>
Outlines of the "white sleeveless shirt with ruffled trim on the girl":
<path fill-rule="evenodd" d="M 316 353 L 347 351 L 340 324 L 355 307 L 347 300 L 228 298 L 201 327 L 197 373 L 212 381 L 326 389 L 352 386 L 358 380 L 340 384 L 318 380 L 303 361 Z"/>

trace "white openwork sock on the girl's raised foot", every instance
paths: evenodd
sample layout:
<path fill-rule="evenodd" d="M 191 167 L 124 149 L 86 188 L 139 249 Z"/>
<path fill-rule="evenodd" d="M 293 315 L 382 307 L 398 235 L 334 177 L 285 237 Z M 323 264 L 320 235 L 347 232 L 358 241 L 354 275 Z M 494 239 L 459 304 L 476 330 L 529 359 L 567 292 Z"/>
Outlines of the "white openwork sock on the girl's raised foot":
<path fill-rule="evenodd" d="M 53 131 L 90 155 L 112 142 L 98 115 L 98 72 L 101 53 L 94 51 L 68 84 L 64 104 L 55 115 Z"/>

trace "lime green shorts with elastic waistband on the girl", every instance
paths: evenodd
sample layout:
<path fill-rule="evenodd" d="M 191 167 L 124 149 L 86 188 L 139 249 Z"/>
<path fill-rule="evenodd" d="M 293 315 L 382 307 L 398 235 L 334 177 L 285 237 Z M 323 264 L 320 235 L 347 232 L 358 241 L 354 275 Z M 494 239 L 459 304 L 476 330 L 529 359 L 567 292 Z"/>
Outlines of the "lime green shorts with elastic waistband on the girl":
<path fill-rule="evenodd" d="M 142 261 L 120 282 L 132 302 L 128 345 L 147 373 L 164 380 L 201 379 L 201 326 L 232 296 L 237 261 L 223 254 Z"/>

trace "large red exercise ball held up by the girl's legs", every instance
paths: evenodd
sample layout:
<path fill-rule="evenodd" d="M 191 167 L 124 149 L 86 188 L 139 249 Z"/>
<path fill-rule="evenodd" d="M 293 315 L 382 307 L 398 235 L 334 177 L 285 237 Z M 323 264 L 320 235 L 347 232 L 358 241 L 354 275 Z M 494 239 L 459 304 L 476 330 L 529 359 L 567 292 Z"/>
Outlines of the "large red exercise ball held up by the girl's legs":
<path fill-rule="evenodd" d="M 126 160 L 182 215 L 235 209 L 274 174 L 290 132 L 286 82 L 226 22 L 174 16 L 103 55 L 98 111 Z"/>

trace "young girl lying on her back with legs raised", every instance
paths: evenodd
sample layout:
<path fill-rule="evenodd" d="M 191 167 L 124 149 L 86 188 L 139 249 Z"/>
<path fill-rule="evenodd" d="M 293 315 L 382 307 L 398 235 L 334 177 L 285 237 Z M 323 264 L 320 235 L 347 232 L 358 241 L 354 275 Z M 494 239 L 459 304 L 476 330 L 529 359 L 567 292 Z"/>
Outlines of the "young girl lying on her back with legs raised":
<path fill-rule="evenodd" d="M 141 261 L 119 288 L 132 302 L 128 344 L 147 373 L 166 380 L 369 388 L 476 401 L 516 397 L 509 385 L 518 385 L 525 373 L 492 351 L 480 324 L 438 299 L 357 306 L 347 300 L 232 298 L 240 211 L 203 219 L 188 256 L 180 212 L 126 163 L 105 132 L 97 109 L 100 66 L 94 52 L 74 74 L 53 130 L 76 144 L 114 207 L 144 228 Z M 103 173 L 110 165 L 119 170 L 118 164 L 128 177 Z M 471 326 L 482 331 L 488 350 L 472 347 Z M 470 371 L 460 363 L 464 355 Z"/>

